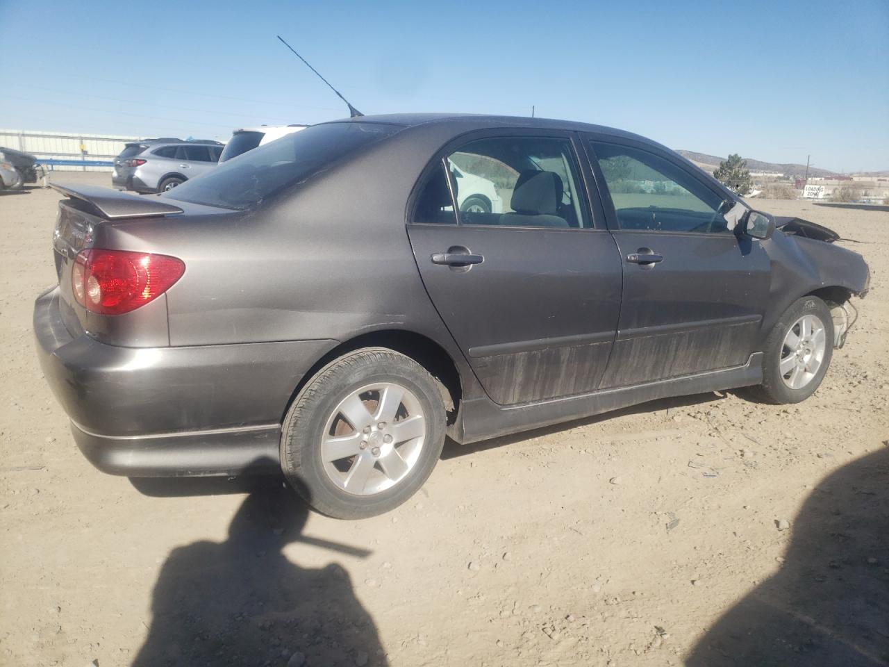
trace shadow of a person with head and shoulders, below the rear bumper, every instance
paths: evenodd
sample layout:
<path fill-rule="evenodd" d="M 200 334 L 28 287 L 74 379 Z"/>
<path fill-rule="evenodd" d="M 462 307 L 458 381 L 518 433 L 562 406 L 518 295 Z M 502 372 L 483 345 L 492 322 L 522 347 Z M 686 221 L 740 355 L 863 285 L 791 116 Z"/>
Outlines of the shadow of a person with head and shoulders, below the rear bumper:
<path fill-rule="evenodd" d="M 148 639 L 132 664 L 386 664 L 346 570 L 305 569 L 284 558 L 290 542 L 368 555 L 301 536 L 307 516 L 289 488 L 262 487 L 237 510 L 228 540 L 173 550 L 155 586 Z"/>

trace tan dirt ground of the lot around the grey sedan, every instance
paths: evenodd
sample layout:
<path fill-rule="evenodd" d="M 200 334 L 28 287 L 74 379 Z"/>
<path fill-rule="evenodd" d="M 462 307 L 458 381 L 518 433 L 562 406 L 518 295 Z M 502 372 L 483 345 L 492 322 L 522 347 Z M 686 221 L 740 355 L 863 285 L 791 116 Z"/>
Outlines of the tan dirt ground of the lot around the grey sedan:
<path fill-rule="evenodd" d="M 873 273 L 804 404 L 706 394 L 450 443 L 410 502 L 349 522 L 276 480 L 92 469 L 31 332 L 58 199 L 0 197 L 0 663 L 889 663 L 889 213 L 758 203 Z"/>

